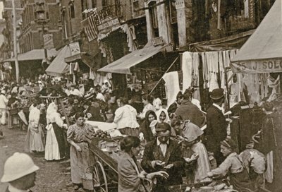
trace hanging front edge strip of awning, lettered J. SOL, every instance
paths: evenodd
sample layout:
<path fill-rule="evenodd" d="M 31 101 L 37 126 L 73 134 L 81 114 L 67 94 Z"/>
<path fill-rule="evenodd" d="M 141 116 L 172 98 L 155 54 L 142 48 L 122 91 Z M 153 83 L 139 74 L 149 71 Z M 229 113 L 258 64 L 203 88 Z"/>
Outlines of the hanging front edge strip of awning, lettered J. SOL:
<path fill-rule="evenodd" d="M 278 73 L 282 72 L 282 59 L 240 61 L 231 64 L 235 73 Z"/>

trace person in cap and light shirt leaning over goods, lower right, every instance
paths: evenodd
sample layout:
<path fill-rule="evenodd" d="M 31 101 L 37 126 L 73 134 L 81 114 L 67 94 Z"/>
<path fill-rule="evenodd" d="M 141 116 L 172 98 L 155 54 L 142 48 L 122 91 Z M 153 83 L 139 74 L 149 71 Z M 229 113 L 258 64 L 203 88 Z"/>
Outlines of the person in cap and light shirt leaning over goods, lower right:
<path fill-rule="evenodd" d="M 253 191 L 250 176 L 247 173 L 247 169 L 244 167 L 243 160 L 237 152 L 235 152 L 236 148 L 237 146 L 231 138 L 226 138 L 221 141 L 221 152 L 226 159 L 218 168 L 208 172 L 207 175 L 209 177 L 229 175 L 233 189 L 240 192 Z"/>

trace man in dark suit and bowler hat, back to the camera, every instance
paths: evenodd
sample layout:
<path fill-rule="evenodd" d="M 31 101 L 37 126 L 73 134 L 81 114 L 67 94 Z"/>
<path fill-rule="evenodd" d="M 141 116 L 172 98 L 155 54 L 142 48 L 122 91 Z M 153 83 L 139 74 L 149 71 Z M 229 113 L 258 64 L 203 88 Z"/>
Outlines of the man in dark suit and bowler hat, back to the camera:
<path fill-rule="evenodd" d="M 212 106 L 207 109 L 207 128 L 205 129 L 204 144 L 209 152 L 214 153 L 216 164 L 221 164 L 225 157 L 221 154 L 221 140 L 226 139 L 228 121 L 223 115 L 224 90 L 212 91 Z"/>

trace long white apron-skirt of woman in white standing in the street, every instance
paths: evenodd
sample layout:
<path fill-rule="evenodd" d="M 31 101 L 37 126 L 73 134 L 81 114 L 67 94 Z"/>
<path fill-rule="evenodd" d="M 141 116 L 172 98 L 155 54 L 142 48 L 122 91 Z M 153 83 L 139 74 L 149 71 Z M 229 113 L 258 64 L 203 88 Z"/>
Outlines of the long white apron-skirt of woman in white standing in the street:
<path fill-rule="evenodd" d="M 47 125 L 47 136 L 45 145 L 45 160 L 60 160 L 59 144 L 56 139 L 54 128 L 52 124 Z"/>

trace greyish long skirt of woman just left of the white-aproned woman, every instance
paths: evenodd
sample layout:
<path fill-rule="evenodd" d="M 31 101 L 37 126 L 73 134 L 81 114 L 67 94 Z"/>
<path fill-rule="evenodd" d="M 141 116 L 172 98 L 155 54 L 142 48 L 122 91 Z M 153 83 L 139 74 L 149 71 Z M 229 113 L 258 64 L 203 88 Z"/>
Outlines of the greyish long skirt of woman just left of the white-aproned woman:
<path fill-rule="evenodd" d="M 39 124 L 38 126 L 38 133 L 30 130 L 30 127 L 28 129 L 29 129 L 29 133 L 27 134 L 30 134 L 29 136 L 30 139 L 28 140 L 30 152 L 32 151 L 43 152 L 44 151 L 44 133 L 43 133 L 41 124 Z"/>

